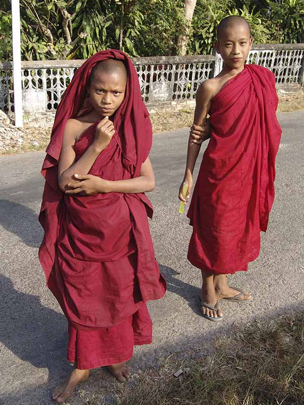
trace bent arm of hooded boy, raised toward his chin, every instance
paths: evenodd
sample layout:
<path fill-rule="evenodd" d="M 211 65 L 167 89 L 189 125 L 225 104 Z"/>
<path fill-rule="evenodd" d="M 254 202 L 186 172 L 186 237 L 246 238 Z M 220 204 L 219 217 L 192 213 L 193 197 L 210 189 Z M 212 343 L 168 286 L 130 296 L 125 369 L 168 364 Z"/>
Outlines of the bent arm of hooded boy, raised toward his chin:
<path fill-rule="evenodd" d="M 100 121 L 98 126 L 106 120 Z M 109 130 L 111 130 L 112 123 L 107 124 Z M 69 119 L 66 123 L 63 135 L 62 148 L 58 163 L 58 184 L 62 191 L 66 191 L 70 188 L 70 185 L 76 185 L 79 180 L 75 179 L 75 173 L 82 173 L 84 175 L 88 174 L 91 170 L 96 158 L 106 148 L 107 143 L 104 144 L 93 142 L 82 157 L 75 161 L 75 134 L 79 132 L 79 127 L 77 126 L 77 121 L 74 119 Z"/>

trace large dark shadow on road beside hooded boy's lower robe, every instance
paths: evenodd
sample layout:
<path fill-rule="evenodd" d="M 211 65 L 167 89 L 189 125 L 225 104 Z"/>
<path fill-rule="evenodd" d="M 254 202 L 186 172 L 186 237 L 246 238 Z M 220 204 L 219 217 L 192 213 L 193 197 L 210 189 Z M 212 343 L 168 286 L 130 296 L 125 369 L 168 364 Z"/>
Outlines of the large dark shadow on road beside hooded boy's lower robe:
<path fill-rule="evenodd" d="M 50 397 L 49 386 L 54 387 L 71 369 L 65 361 L 66 319 L 42 305 L 39 297 L 15 290 L 12 281 L 2 274 L 0 295 L 0 342 L 21 360 L 48 369 L 49 382 L 43 391 Z M 32 383 L 36 386 L 39 381 Z"/>

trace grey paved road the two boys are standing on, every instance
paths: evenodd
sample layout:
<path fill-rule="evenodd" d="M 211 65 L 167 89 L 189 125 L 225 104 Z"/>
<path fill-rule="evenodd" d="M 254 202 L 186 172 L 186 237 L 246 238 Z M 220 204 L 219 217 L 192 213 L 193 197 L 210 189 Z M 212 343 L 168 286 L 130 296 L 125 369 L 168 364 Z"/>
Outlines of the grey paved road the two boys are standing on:
<path fill-rule="evenodd" d="M 276 200 L 268 233 L 262 235 L 259 258 L 247 273 L 231 278 L 232 285 L 249 288 L 254 300 L 244 306 L 224 303 L 219 324 L 199 316 L 200 273 L 186 261 L 191 228 L 177 213 L 177 189 L 184 170 L 187 131 L 156 135 L 151 160 L 157 187 L 150 195 L 155 207 L 151 221 L 157 258 L 168 281 L 168 293 L 149 304 L 154 344 L 136 348 L 136 371 L 155 366 L 173 352 L 191 355 L 208 351 L 214 336 L 229 333 L 253 318 L 274 317 L 304 306 L 303 111 L 281 113 L 283 138 L 277 160 Z M 37 222 L 43 180 L 44 153 L 0 158 L 0 404 L 51 404 L 50 387 L 70 371 L 65 361 L 66 320 L 45 287 L 37 260 L 42 229 Z M 111 377 L 95 370 L 82 390 L 106 392 Z M 82 404 L 84 391 L 69 403 Z"/>

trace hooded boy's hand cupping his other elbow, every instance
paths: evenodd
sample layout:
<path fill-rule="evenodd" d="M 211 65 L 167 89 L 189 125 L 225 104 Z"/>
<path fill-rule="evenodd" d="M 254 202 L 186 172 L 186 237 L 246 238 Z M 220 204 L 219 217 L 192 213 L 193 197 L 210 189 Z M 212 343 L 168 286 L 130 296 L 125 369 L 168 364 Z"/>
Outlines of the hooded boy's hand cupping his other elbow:
<path fill-rule="evenodd" d="M 74 174 L 74 178 L 79 180 L 77 183 L 67 184 L 66 194 L 93 195 L 97 193 L 107 193 L 107 180 L 91 174 Z"/>

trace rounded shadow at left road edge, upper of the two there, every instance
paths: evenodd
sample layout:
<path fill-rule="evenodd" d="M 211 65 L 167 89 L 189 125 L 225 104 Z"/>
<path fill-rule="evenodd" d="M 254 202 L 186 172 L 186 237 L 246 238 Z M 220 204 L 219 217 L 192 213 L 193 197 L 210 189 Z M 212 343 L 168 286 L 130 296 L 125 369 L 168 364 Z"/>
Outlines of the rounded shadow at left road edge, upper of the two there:
<path fill-rule="evenodd" d="M 19 236 L 30 247 L 39 248 L 43 229 L 37 214 L 21 204 L 0 199 L 0 224 L 9 232 Z"/>

